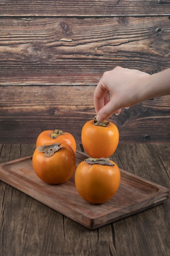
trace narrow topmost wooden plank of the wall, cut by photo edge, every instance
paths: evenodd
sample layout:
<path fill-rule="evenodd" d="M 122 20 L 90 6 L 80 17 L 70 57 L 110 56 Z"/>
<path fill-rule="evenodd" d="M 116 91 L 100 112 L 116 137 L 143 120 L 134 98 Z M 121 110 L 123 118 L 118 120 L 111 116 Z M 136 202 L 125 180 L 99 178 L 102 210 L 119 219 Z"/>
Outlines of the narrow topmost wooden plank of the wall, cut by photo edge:
<path fill-rule="evenodd" d="M 170 13 L 169 0 L 1 0 L 1 16 L 115 16 Z"/>

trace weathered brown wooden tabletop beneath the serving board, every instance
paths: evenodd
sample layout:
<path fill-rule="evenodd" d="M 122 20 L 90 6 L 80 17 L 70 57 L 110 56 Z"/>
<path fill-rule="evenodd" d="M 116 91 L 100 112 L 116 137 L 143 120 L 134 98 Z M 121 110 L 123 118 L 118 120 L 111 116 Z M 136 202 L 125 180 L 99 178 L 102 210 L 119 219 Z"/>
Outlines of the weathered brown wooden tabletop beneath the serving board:
<path fill-rule="evenodd" d="M 80 145 L 77 145 L 81 149 Z M 32 155 L 34 144 L 0 144 L 0 162 Z M 170 188 L 170 144 L 119 144 L 120 168 Z M 170 199 L 90 230 L 0 181 L 1 256 L 169 256 Z"/>

